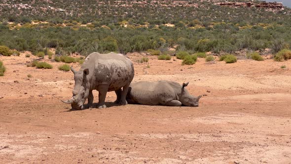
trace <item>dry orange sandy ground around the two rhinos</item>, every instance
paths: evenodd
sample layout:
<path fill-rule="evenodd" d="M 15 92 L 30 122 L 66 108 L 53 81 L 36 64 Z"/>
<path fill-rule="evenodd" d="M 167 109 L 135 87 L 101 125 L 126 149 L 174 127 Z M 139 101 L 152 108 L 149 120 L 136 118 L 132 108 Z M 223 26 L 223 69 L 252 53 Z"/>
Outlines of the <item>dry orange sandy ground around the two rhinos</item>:
<path fill-rule="evenodd" d="M 0 163 L 291 163 L 291 60 L 199 58 L 182 66 L 128 56 L 135 82 L 189 82 L 190 93 L 207 95 L 199 107 L 116 106 L 109 92 L 109 108 L 71 111 L 60 101 L 73 88 L 73 73 L 58 70 L 63 63 L 46 58 L 54 68 L 42 70 L 26 67 L 34 57 L 0 56 L 7 68 L 0 77 Z"/>

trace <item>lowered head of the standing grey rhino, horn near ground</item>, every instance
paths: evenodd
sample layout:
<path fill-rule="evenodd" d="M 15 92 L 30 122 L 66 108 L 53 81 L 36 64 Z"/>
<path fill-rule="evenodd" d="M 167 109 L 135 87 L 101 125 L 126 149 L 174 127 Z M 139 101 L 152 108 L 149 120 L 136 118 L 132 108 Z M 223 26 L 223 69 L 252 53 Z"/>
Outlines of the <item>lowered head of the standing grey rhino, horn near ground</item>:
<path fill-rule="evenodd" d="M 89 87 L 87 86 L 87 75 L 89 75 L 89 69 L 75 71 L 73 67 L 71 67 L 71 71 L 74 74 L 75 81 L 73 96 L 70 100 L 61 101 L 66 104 L 71 104 L 72 109 L 83 109 L 83 105 L 89 96 Z"/>

